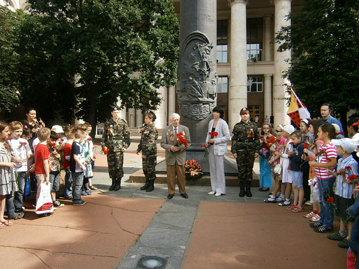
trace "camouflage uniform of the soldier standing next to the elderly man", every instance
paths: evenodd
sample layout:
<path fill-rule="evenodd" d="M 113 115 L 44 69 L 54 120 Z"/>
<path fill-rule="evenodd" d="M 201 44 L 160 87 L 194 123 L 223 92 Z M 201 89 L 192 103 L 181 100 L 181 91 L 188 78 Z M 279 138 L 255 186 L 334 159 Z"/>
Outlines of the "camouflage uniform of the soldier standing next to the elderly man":
<path fill-rule="evenodd" d="M 154 123 L 146 125 L 141 132 L 141 140 L 139 141 L 137 151 L 141 152 L 142 150 L 142 155 L 146 156 L 145 159 L 142 159 L 142 169 L 146 180 L 152 180 L 156 178 L 157 145 L 155 140 L 158 138 L 158 132 Z"/>

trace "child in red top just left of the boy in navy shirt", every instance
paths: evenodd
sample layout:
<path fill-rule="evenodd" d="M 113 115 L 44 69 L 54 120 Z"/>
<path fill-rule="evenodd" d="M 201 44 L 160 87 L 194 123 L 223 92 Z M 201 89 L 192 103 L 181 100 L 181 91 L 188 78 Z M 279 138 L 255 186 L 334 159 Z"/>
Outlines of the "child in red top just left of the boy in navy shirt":
<path fill-rule="evenodd" d="M 65 127 L 65 136 L 64 140 L 66 141 L 63 149 L 64 156 L 64 170 L 65 170 L 65 193 L 64 197 L 66 199 L 72 200 L 72 190 L 71 190 L 71 171 L 70 171 L 70 157 L 71 157 L 71 147 L 73 139 L 75 138 L 75 132 L 73 126 Z"/>

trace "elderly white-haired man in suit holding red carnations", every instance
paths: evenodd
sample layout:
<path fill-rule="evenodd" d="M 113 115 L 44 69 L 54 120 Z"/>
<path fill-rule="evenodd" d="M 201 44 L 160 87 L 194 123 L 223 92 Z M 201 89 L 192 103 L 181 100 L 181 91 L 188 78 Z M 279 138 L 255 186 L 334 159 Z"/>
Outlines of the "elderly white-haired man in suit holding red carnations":
<path fill-rule="evenodd" d="M 176 187 L 175 177 L 177 175 L 179 193 L 183 198 L 188 198 L 186 193 L 186 147 L 182 144 L 176 147 L 177 134 L 182 133 L 183 137 L 187 139 L 188 147 L 191 146 L 191 138 L 189 130 L 186 126 L 179 125 L 179 115 L 173 113 L 170 117 L 170 124 L 163 129 L 161 147 L 166 150 L 167 162 L 167 186 L 168 186 L 168 199 L 172 199 Z M 171 156 L 169 156 L 171 155 Z"/>

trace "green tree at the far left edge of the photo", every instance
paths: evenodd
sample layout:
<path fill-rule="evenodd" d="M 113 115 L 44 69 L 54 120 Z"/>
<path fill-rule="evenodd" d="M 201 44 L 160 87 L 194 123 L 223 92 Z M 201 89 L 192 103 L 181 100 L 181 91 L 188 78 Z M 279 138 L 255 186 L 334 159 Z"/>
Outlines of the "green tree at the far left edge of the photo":
<path fill-rule="evenodd" d="M 0 6 L 0 112 L 10 112 L 19 103 L 19 88 L 16 79 L 18 54 L 16 28 L 21 20 L 14 13 Z"/>

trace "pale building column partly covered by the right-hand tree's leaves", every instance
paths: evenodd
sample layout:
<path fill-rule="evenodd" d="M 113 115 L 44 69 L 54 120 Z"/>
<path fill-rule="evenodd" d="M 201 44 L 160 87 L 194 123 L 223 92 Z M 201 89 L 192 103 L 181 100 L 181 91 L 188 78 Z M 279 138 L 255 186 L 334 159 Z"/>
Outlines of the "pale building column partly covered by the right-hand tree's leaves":
<path fill-rule="evenodd" d="M 290 20 L 286 16 L 291 10 L 291 0 L 274 0 L 275 15 L 274 15 L 274 33 L 281 30 L 282 26 L 289 26 Z M 291 58 L 290 51 L 277 52 L 280 44 L 274 43 L 274 79 L 273 79 L 273 116 L 274 125 L 290 124 L 290 118 L 287 115 L 287 100 L 286 86 L 289 85 L 288 79 L 282 77 L 283 71 L 287 70 L 289 63 L 286 59 Z"/>

